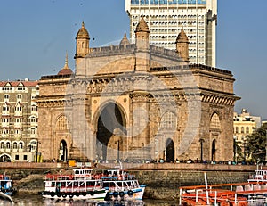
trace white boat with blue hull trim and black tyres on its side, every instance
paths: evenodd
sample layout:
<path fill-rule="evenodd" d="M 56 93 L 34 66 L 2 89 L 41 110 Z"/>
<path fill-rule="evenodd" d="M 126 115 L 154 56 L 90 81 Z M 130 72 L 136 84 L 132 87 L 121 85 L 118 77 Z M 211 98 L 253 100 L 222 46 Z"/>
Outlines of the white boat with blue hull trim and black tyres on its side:
<path fill-rule="evenodd" d="M 139 185 L 134 175 L 123 169 L 103 170 L 101 179 L 109 188 L 105 200 L 142 200 L 146 185 Z"/>

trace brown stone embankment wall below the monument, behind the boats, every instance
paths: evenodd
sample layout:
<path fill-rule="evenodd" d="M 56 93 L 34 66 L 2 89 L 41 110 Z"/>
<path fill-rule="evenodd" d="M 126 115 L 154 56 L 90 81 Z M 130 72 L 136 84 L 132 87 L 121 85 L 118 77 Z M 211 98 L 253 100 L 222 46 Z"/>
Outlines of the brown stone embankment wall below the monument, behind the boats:
<path fill-rule="evenodd" d="M 13 179 L 18 193 L 38 194 L 44 190 L 45 174 L 63 172 L 69 169 L 66 164 L 28 163 L 21 165 L 0 165 L 4 172 Z M 20 166 L 20 167 L 19 167 Z M 98 164 L 97 169 L 117 167 L 116 164 Z M 249 175 L 255 173 L 256 166 L 241 165 L 204 165 L 204 164 L 124 164 L 124 169 L 133 173 L 140 184 L 147 185 L 144 198 L 175 200 L 179 186 L 204 185 L 206 172 L 208 184 L 247 182 Z M 267 168 L 266 168 L 267 169 Z"/>

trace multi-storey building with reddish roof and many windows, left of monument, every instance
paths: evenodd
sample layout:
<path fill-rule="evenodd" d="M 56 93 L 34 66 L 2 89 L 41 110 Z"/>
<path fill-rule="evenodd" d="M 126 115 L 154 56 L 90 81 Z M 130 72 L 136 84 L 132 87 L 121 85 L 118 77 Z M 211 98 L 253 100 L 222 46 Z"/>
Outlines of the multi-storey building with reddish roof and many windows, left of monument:
<path fill-rule="evenodd" d="M 37 81 L 0 81 L 0 162 L 37 161 Z"/>

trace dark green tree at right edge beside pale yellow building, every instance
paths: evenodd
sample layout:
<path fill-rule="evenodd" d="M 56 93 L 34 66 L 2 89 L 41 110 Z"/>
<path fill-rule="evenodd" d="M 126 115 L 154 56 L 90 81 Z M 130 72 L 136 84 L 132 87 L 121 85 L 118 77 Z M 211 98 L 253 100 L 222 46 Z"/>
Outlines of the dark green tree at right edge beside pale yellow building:
<path fill-rule="evenodd" d="M 246 152 L 251 156 L 252 161 L 265 161 L 267 144 L 267 124 L 247 136 Z"/>

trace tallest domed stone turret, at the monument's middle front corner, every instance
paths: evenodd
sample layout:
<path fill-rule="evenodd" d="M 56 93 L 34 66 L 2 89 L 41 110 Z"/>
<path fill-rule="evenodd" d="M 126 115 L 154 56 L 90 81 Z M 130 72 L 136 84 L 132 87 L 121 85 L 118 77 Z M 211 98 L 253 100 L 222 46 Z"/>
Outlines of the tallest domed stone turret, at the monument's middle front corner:
<path fill-rule="evenodd" d="M 136 66 L 135 70 L 150 70 L 150 29 L 143 17 L 135 29 Z"/>

